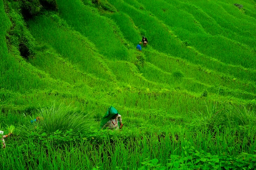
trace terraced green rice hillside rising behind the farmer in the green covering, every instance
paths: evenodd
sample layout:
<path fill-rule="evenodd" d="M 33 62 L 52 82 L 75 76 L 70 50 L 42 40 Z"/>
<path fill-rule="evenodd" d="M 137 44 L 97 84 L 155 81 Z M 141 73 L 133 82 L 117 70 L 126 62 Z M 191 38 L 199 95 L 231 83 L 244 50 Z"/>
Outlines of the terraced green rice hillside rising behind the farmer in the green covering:
<path fill-rule="evenodd" d="M 26 108 L 30 100 L 18 102 L 13 97 L 35 100 L 32 96 L 37 93 L 49 97 L 48 91 L 56 91 L 122 108 L 135 103 L 150 108 L 144 103 L 152 101 L 141 94 L 163 98 L 160 103 L 166 110 L 169 103 L 179 106 L 180 98 L 185 98 L 183 104 L 230 97 L 235 103 L 252 104 L 256 96 L 255 4 L 242 2 L 239 9 L 223 1 L 205 5 L 200 1 L 109 0 L 95 5 L 86 0 L 57 0 L 58 12 L 37 15 L 26 23 L 16 2 L 5 2 L 12 25 L 1 29 L 6 30 L 2 44 L 6 46 L 4 32 L 8 33 L 9 48 L 9 52 L 3 49 L 3 57 L 9 57 L 2 63 L 12 66 L 2 66 L 1 88 L 13 95 L 1 102 Z M 141 35 L 149 43 L 138 52 L 135 47 Z M 30 43 L 29 50 L 33 50 L 27 60 L 20 57 L 21 43 Z M 179 98 L 165 97 L 176 93 Z M 134 98 L 124 102 L 130 95 Z M 40 97 L 36 100 L 44 103 Z M 202 107 L 191 106 L 193 110 Z"/>

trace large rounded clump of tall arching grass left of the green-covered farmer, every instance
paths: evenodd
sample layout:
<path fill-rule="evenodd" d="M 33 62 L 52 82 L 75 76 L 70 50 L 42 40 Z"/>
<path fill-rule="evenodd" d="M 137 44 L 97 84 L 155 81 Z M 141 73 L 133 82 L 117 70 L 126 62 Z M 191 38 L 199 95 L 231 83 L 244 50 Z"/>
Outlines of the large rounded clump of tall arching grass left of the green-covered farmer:
<path fill-rule="evenodd" d="M 89 115 L 71 105 L 65 106 L 63 103 L 56 106 L 45 107 L 38 110 L 41 120 L 38 125 L 45 131 L 52 133 L 56 130 L 70 130 L 73 132 L 83 132 L 91 125 Z"/>

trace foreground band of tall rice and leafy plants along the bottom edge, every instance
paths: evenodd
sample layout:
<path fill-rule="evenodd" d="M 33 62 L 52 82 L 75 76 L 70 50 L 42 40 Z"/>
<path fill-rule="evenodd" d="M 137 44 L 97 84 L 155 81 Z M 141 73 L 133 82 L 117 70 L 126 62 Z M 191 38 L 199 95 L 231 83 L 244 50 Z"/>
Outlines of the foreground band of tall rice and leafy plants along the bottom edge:
<path fill-rule="evenodd" d="M 63 169 L 87 168 L 87 169 L 154 169 L 160 167 L 164 169 L 173 169 L 174 167 L 254 167 L 256 161 L 253 154 L 242 152 L 237 156 L 222 153 L 215 155 L 202 149 L 197 149 L 189 141 L 184 141 L 184 145 L 175 146 L 169 143 L 168 136 L 136 136 L 127 141 L 122 138 L 115 139 L 115 143 L 110 143 L 106 139 L 102 145 L 90 144 L 87 140 L 74 142 L 70 146 L 54 146 L 51 141 L 45 141 L 46 147 L 29 139 L 24 145 L 14 143 L 5 150 L 0 150 L 4 161 L 1 165 L 8 169 L 11 163 L 16 163 L 19 169 L 32 167 L 39 169 Z M 170 150 L 172 148 L 172 150 Z M 176 149 L 175 149 L 176 148 Z M 173 149 L 183 151 L 182 154 L 176 154 Z M 7 154 L 9 157 L 7 157 Z M 161 157 L 162 155 L 162 157 Z M 251 158 L 250 158 L 251 157 Z M 19 158 L 19 159 L 18 159 Z M 79 160 L 79 161 L 78 161 Z M 177 162 L 176 162 L 177 161 Z M 231 161 L 234 164 L 229 164 Z M 248 164 L 248 161 L 250 162 Z M 218 168 L 217 168 L 218 169 Z"/>

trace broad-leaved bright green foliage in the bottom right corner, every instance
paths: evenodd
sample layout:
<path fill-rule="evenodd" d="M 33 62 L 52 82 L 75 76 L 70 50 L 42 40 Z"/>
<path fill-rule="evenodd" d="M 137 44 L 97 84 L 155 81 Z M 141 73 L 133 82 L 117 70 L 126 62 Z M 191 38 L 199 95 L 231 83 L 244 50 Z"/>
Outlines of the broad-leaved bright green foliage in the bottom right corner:
<path fill-rule="evenodd" d="M 196 150 L 190 143 L 182 147 L 184 152 L 182 157 L 171 155 L 170 163 L 166 165 L 170 169 L 186 168 L 192 169 L 254 169 L 256 168 L 256 155 L 241 153 L 238 157 L 233 157 L 222 153 L 221 155 L 211 155 L 204 150 Z"/>

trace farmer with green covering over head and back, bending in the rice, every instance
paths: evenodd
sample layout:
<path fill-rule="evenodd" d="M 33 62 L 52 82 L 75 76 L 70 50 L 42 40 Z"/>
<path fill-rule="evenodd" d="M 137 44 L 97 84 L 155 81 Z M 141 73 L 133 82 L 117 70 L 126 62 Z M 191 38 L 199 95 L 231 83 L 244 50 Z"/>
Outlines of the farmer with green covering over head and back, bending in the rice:
<path fill-rule="evenodd" d="M 115 109 L 113 106 L 110 106 L 110 108 L 108 108 L 107 113 L 101 119 L 100 128 L 117 130 L 119 128 L 121 129 L 122 127 L 123 127 L 123 124 L 122 124 L 121 115 L 118 114 L 117 109 Z"/>

